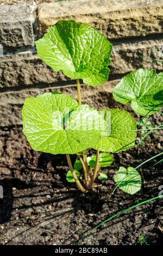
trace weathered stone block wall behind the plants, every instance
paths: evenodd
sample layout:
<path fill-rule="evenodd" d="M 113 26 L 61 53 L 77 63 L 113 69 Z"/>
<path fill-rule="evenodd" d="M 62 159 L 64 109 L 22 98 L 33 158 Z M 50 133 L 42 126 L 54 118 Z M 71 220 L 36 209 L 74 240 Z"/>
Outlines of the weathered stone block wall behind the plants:
<path fill-rule="evenodd" d="M 28 96 L 55 89 L 76 95 L 74 81 L 44 64 L 37 56 L 34 46 L 34 41 L 60 19 L 89 23 L 114 45 L 110 82 L 98 89 L 84 87 L 85 94 L 101 97 L 100 92 L 103 90 L 109 94 L 118 79 L 137 68 L 163 70 L 163 63 L 141 58 L 158 58 L 154 50 L 163 52 L 162 0 L 76 0 L 37 6 L 23 3 L 2 4 L 1 127 L 21 124 L 21 107 Z"/>

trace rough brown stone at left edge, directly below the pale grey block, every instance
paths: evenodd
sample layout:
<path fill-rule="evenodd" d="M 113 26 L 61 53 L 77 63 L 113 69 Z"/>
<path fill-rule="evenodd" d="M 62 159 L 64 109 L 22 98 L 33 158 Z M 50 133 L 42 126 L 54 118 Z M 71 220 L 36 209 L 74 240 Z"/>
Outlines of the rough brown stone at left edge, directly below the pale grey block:
<path fill-rule="evenodd" d="M 0 65 L 0 87 L 66 81 L 61 72 L 54 72 L 32 51 L 5 55 L 0 58 Z"/>

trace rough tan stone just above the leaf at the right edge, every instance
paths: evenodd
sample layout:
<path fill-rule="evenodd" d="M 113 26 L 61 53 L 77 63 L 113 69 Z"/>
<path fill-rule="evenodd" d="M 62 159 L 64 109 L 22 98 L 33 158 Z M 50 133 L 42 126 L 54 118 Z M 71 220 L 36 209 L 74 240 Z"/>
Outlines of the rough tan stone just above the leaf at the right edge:
<path fill-rule="evenodd" d="M 153 59 L 160 58 L 159 54 L 154 50 L 163 52 L 163 39 L 140 40 L 114 45 L 112 50 L 111 74 L 125 74 L 139 68 L 162 71 L 162 62 L 154 62 L 146 59 L 146 57 Z"/>

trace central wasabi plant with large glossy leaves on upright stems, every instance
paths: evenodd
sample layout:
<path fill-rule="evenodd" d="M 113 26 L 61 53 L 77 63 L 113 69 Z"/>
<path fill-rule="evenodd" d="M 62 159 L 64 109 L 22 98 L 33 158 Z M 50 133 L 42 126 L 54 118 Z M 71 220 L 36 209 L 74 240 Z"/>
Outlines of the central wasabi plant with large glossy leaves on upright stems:
<path fill-rule="evenodd" d="M 36 151 L 66 154 L 70 168 L 67 181 L 76 182 L 80 191 L 87 192 L 96 178 L 107 179 L 101 168 L 114 161 L 110 153 L 133 147 L 136 139 L 136 123 L 127 111 L 98 111 L 82 105 L 79 79 L 93 87 L 108 81 L 112 44 L 89 25 L 61 20 L 36 41 L 36 48 L 39 57 L 55 72 L 61 71 L 77 81 L 78 101 L 57 92 L 26 99 L 22 109 L 24 135 Z M 133 97 L 130 92 L 127 95 L 128 99 L 123 95 L 124 103 L 130 101 L 130 95 Z M 91 155 L 90 149 L 96 154 Z M 71 154 L 77 155 L 74 164 Z M 116 183 L 122 184 L 130 171 L 121 170 Z M 134 176 L 126 178 L 127 193 L 137 192 L 136 186 L 140 189 L 141 177 L 136 170 Z"/>

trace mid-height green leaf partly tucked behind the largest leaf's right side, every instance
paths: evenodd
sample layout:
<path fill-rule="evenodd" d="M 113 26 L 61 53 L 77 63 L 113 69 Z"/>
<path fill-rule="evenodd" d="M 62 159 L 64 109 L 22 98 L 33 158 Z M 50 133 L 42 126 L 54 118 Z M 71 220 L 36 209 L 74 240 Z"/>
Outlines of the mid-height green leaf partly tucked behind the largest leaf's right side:
<path fill-rule="evenodd" d="M 99 112 L 103 112 L 106 123 L 109 123 L 111 114 L 111 126 L 110 135 L 102 136 L 101 142 L 96 145 L 95 149 L 117 153 L 133 147 L 136 139 L 136 123 L 130 113 L 117 108 L 104 109 Z"/>

